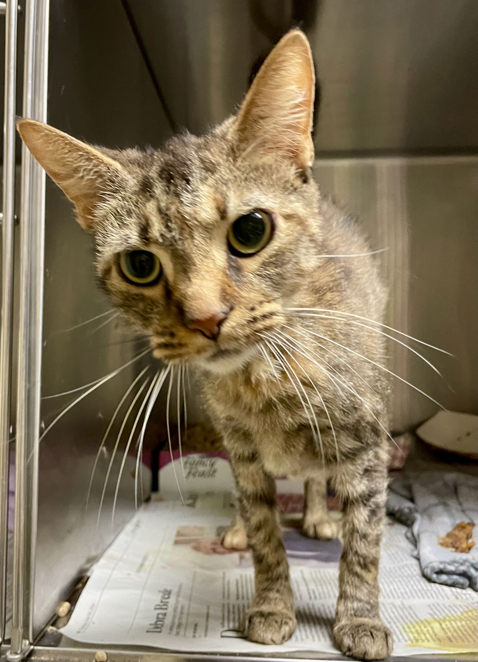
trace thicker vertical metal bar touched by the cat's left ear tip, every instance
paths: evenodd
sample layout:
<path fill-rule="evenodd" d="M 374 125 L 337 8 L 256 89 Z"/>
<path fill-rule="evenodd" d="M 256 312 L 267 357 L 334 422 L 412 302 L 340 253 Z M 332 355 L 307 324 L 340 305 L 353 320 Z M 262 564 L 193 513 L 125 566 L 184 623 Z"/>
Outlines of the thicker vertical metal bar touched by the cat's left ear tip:
<path fill-rule="evenodd" d="M 48 18 L 49 0 L 26 0 L 23 117 L 43 122 L 46 121 L 48 93 Z M 45 173 L 22 146 L 11 660 L 24 657 L 34 636 L 44 226 Z"/>

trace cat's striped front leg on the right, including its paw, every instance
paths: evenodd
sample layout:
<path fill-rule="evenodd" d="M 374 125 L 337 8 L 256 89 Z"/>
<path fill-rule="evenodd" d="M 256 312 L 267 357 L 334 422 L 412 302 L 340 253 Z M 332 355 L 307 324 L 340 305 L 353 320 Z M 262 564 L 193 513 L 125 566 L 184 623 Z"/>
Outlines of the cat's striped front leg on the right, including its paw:
<path fill-rule="evenodd" d="M 356 461 L 340 464 L 334 478 L 344 506 L 335 641 L 350 657 L 383 659 L 393 646 L 378 602 L 387 457 L 379 448 L 370 449 Z"/>

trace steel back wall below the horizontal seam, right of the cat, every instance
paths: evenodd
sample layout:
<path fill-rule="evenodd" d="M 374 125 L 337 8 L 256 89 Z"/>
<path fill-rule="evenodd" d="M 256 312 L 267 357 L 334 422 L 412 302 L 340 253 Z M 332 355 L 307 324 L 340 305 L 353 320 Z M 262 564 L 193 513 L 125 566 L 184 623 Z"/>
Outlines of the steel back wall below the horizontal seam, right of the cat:
<path fill-rule="evenodd" d="M 476 412 L 478 158 L 318 160 L 315 177 L 323 195 L 356 216 L 371 247 L 387 249 L 377 259 L 389 285 L 388 324 L 454 355 L 397 336 L 444 379 L 391 341 L 389 368 L 446 408 Z M 395 430 L 416 426 L 437 410 L 393 379 Z"/>

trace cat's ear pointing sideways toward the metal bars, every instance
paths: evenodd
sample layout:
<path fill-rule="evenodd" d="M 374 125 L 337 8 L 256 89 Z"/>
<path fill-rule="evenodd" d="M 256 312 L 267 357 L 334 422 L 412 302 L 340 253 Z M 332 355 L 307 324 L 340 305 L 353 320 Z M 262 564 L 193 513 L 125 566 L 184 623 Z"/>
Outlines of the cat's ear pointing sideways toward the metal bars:
<path fill-rule="evenodd" d="M 48 124 L 19 120 L 17 130 L 40 166 L 74 203 L 79 224 L 92 232 L 102 193 L 128 179 L 124 167 Z"/>

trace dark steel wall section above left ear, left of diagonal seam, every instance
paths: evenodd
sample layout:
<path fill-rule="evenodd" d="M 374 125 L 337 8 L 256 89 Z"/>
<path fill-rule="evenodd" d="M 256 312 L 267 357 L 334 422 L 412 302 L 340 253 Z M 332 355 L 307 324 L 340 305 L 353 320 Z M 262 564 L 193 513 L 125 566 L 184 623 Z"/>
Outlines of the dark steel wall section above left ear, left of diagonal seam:
<path fill-rule="evenodd" d="M 48 122 L 61 130 L 120 148 L 170 135 L 120 2 L 52 3 L 49 73 Z"/>

